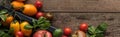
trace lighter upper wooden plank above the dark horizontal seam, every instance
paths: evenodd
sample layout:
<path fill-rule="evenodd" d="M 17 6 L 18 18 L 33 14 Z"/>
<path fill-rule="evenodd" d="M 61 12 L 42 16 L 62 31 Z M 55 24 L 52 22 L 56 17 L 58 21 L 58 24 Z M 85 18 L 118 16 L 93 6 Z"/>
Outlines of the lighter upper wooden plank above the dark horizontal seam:
<path fill-rule="evenodd" d="M 34 2 L 35 0 L 28 0 Z M 45 11 L 120 12 L 120 0 L 41 0 Z"/>

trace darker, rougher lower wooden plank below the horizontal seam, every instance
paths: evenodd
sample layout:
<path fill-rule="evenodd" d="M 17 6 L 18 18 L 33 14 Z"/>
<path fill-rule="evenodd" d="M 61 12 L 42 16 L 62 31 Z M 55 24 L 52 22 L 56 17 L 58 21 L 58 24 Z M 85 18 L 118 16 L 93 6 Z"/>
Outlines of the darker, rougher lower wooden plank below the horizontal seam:
<path fill-rule="evenodd" d="M 105 37 L 120 37 L 120 13 L 54 13 L 52 22 L 56 28 L 70 27 L 73 32 L 79 30 L 82 22 L 95 27 L 106 22 L 108 28 Z"/>

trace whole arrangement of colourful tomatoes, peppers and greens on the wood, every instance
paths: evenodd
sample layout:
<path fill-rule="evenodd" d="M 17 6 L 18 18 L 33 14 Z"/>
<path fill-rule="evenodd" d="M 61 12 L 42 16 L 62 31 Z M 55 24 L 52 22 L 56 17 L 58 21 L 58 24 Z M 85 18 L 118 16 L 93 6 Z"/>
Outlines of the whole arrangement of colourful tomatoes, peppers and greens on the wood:
<path fill-rule="evenodd" d="M 52 13 L 39 10 L 43 5 L 41 1 L 35 0 L 34 4 L 27 4 L 26 0 L 7 0 L 9 7 L 4 6 L 6 0 L 2 1 L 0 37 L 104 37 L 108 26 L 105 22 L 97 27 L 81 23 L 77 31 L 69 27 L 54 30 L 50 29 Z"/>

